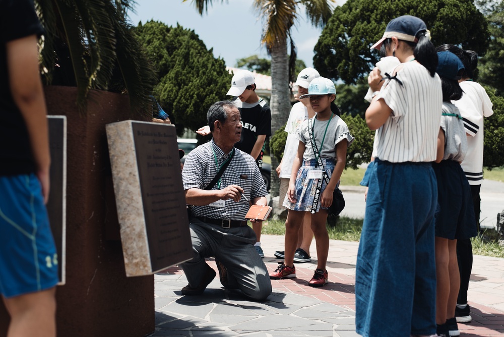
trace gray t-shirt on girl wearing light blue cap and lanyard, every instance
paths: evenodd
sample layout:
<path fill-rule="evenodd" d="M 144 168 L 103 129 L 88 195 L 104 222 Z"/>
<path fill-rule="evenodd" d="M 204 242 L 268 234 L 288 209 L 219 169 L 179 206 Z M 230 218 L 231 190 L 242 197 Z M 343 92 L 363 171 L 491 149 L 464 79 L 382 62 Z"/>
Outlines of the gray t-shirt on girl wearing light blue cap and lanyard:
<path fill-rule="evenodd" d="M 303 142 L 306 146 L 303 159 L 315 158 L 313 148 L 311 147 L 310 135 L 308 133 L 308 123 L 312 125 L 313 136 L 315 138 L 315 143 L 317 144 L 321 158 L 336 158 L 336 144 L 346 139 L 348 147 L 350 146 L 350 144 L 352 144 L 355 138 L 353 138 L 350 134 L 348 126 L 345 124 L 345 122 L 343 122 L 343 120 L 338 116 L 334 116 L 330 121 L 315 120 L 315 122 L 313 123 L 313 119 L 316 117 L 317 115 L 315 115 L 315 117 L 313 118 L 310 118 L 309 120 L 303 121 L 299 129 L 297 129 L 297 139 Z M 321 149 L 320 144 L 322 142 L 322 138 L 324 137 L 327 123 L 329 123 L 329 126 L 327 128 L 326 137 L 324 138 L 324 143 Z"/>

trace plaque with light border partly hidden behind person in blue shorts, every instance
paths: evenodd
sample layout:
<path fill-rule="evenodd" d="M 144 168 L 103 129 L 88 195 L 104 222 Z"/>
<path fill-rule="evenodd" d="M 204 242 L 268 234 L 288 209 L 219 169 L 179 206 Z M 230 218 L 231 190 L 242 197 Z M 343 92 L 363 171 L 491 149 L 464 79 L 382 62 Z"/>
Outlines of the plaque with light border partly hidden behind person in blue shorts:
<path fill-rule="evenodd" d="M 67 117 L 47 116 L 47 123 L 51 168 L 49 172 L 49 200 L 46 207 L 58 254 L 58 284 L 64 285 L 67 238 Z"/>

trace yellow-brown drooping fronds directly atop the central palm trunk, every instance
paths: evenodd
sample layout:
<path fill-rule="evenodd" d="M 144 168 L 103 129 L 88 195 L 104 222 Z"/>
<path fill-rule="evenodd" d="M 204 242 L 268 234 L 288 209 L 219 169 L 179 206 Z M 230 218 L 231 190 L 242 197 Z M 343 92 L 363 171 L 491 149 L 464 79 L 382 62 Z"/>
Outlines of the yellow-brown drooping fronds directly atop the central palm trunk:
<path fill-rule="evenodd" d="M 254 0 L 254 7 L 263 19 L 262 43 L 268 50 L 279 40 L 287 39 L 296 17 L 294 0 Z"/>

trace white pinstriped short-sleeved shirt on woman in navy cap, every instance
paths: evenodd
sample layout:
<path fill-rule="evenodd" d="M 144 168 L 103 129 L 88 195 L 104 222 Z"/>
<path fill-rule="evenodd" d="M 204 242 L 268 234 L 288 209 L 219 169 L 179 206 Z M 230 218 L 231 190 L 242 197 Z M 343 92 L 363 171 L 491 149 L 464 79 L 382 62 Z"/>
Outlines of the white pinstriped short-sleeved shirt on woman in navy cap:
<path fill-rule="evenodd" d="M 379 94 L 392 114 L 376 132 L 376 157 L 390 162 L 434 161 L 443 106 L 441 80 L 417 62 L 396 69 L 396 79 L 387 80 Z"/>

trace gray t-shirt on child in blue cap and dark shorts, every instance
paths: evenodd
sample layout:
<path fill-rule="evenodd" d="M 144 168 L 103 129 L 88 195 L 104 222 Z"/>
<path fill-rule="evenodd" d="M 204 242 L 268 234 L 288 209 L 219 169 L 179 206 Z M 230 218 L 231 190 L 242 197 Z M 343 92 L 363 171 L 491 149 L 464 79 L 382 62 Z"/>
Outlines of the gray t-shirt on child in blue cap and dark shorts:
<path fill-rule="evenodd" d="M 443 160 L 464 160 L 467 152 L 467 137 L 459 109 L 449 102 L 443 102 L 441 128 L 445 132 L 445 155 Z"/>

